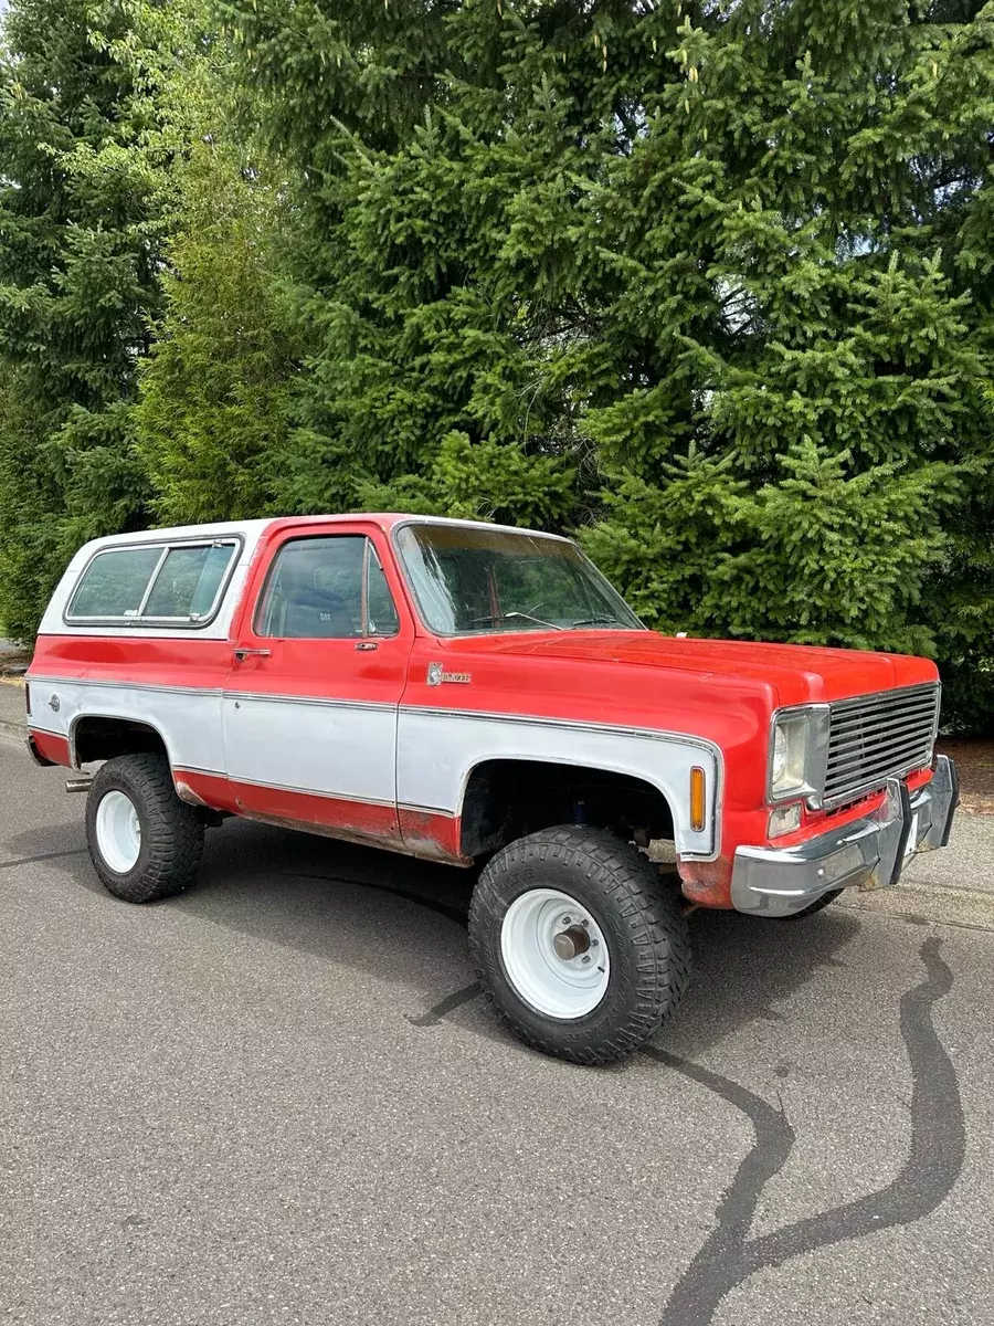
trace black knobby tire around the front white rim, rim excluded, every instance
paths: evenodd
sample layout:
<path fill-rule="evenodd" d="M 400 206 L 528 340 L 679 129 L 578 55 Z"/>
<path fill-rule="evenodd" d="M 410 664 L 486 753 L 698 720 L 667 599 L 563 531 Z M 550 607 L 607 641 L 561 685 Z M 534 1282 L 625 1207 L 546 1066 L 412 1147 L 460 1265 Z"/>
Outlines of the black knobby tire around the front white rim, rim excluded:
<path fill-rule="evenodd" d="M 533 888 L 571 895 L 596 920 L 610 955 L 608 984 L 583 1017 L 547 1017 L 512 985 L 501 955 L 508 908 Z M 510 843 L 480 875 L 469 907 L 480 984 L 510 1029 L 545 1054 L 611 1063 L 644 1045 L 676 1009 L 690 976 L 680 896 L 631 843 L 600 829 L 543 829 Z"/>

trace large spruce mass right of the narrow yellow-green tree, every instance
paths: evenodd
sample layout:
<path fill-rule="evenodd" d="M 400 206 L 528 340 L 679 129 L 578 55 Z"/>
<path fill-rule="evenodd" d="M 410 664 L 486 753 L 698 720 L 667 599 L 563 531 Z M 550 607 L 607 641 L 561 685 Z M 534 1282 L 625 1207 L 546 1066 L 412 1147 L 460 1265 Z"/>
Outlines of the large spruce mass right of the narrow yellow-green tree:
<path fill-rule="evenodd" d="M 292 504 L 460 509 L 457 431 L 656 625 L 977 674 L 994 5 L 223 11 L 310 235 Z"/>

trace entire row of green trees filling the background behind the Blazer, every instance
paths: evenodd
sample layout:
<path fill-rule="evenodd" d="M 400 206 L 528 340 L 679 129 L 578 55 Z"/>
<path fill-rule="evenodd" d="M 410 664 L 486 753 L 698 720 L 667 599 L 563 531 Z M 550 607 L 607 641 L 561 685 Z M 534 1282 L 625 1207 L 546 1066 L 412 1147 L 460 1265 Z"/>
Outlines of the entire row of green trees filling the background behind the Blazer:
<path fill-rule="evenodd" d="M 85 534 L 448 512 L 994 723 L 994 3 L 13 0 L 7 48 L 11 629 Z"/>

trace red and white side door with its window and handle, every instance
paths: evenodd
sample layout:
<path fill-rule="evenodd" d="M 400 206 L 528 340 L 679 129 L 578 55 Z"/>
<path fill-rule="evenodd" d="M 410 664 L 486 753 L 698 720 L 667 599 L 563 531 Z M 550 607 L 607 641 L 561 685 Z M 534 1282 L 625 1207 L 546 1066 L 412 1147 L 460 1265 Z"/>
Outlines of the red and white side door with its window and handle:
<path fill-rule="evenodd" d="M 243 814 L 399 839 L 396 720 L 414 626 L 378 533 L 290 528 L 253 575 L 221 701 Z"/>

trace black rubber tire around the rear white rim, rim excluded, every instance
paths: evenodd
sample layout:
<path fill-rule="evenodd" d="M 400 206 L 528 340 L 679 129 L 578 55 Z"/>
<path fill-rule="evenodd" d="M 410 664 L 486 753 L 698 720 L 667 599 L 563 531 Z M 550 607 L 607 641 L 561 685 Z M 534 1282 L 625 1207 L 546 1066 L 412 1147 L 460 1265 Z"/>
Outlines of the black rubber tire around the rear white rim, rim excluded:
<path fill-rule="evenodd" d="M 127 874 L 111 870 L 97 841 L 97 808 L 113 790 L 130 797 L 138 812 L 142 845 Z M 129 903 L 152 903 L 183 892 L 196 878 L 204 850 L 204 823 L 176 796 L 168 760 L 160 754 L 122 754 L 97 772 L 86 797 L 86 846 L 101 883 Z"/>

